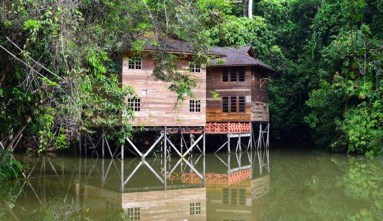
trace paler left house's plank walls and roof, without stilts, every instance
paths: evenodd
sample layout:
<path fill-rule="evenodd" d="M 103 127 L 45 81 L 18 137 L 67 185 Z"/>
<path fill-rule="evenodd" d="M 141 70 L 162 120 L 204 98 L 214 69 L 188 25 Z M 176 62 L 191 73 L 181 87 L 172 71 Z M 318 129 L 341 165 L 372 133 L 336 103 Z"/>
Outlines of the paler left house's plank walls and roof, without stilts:
<path fill-rule="evenodd" d="M 192 45 L 171 40 L 162 45 L 162 48 L 148 43 L 143 44 L 143 48 L 144 52 L 141 56 L 128 52 L 123 60 L 122 82 L 124 85 L 134 87 L 138 94 L 137 99 L 127 98 L 136 115 L 136 119 L 132 121 L 133 126 L 204 127 L 206 124 L 206 67 L 192 61 Z M 174 108 L 177 96 L 170 91 L 170 84 L 156 81 L 152 77 L 155 68 L 152 52 L 159 49 L 178 57 L 176 64 L 179 71 L 200 78 L 198 87 L 193 91 L 196 99 L 186 96 L 186 102 Z"/>

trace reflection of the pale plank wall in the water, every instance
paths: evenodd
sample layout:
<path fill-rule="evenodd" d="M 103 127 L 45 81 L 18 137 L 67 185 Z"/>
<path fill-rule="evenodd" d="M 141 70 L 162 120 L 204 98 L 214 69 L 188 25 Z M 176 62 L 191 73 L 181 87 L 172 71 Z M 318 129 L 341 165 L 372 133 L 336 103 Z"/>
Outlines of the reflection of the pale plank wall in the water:
<path fill-rule="evenodd" d="M 189 204 L 201 203 L 201 214 L 190 215 Z M 141 221 L 206 220 L 206 188 L 123 193 L 122 206 L 140 207 Z"/>

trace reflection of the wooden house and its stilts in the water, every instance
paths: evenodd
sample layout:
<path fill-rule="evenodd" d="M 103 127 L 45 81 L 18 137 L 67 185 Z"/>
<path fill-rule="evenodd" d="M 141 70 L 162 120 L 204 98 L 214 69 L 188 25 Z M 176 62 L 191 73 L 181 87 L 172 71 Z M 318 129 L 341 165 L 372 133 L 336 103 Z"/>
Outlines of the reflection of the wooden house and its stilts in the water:
<path fill-rule="evenodd" d="M 84 185 L 83 205 L 97 217 L 123 208 L 130 220 L 141 221 L 267 220 L 268 150 L 198 156 L 132 160 L 135 168 L 129 162 L 120 171 L 128 173 L 121 191 Z"/>

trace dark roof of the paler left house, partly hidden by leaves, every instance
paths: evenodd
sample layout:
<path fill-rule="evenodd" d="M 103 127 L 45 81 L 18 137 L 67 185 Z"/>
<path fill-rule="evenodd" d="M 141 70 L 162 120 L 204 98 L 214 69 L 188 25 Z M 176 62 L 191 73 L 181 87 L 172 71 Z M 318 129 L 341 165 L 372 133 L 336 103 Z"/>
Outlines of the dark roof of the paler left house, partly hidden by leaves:
<path fill-rule="evenodd" d="M 150 50 L 150 51 L 165 50 L 168 52 L 176 52 L 176 53 L 186 53 L 186 54 L 193 53 L 192 43 L 179 41 L 179 40 L 166 40 L 164 43 L 161 43 L 159 45 L 151 44 L 151 41 L 148 40 L 142 44 L 142 47 L 144 48 L 144 50 Z M 208 52 L 208 55 L 224 56 L 223 54 L 215 52 L 215 51 Z"/>

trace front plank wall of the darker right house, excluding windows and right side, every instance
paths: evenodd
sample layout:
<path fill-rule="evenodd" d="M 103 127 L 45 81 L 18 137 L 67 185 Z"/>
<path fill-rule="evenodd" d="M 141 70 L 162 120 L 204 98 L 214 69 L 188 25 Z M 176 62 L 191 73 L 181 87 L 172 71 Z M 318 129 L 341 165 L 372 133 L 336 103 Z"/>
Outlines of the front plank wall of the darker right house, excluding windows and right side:
<path fill-rule="evenodd" d="M 230 70 L 230 67 L 228 67 Z M 245 66 L 245 82 L 222 82 L 222 67 L 208 68 L 206 71 L 207 99 L 210 100 L 206 109 L 206 122 L 250 122 L 251 121 L 251 67 Z M 230 79 L 230 78 L 229 78 Z M 222 113 L 221 100 L 213 98 L 211 91 L 216 91 L 219 97 L 245 96 L 246 112 Z"/>

